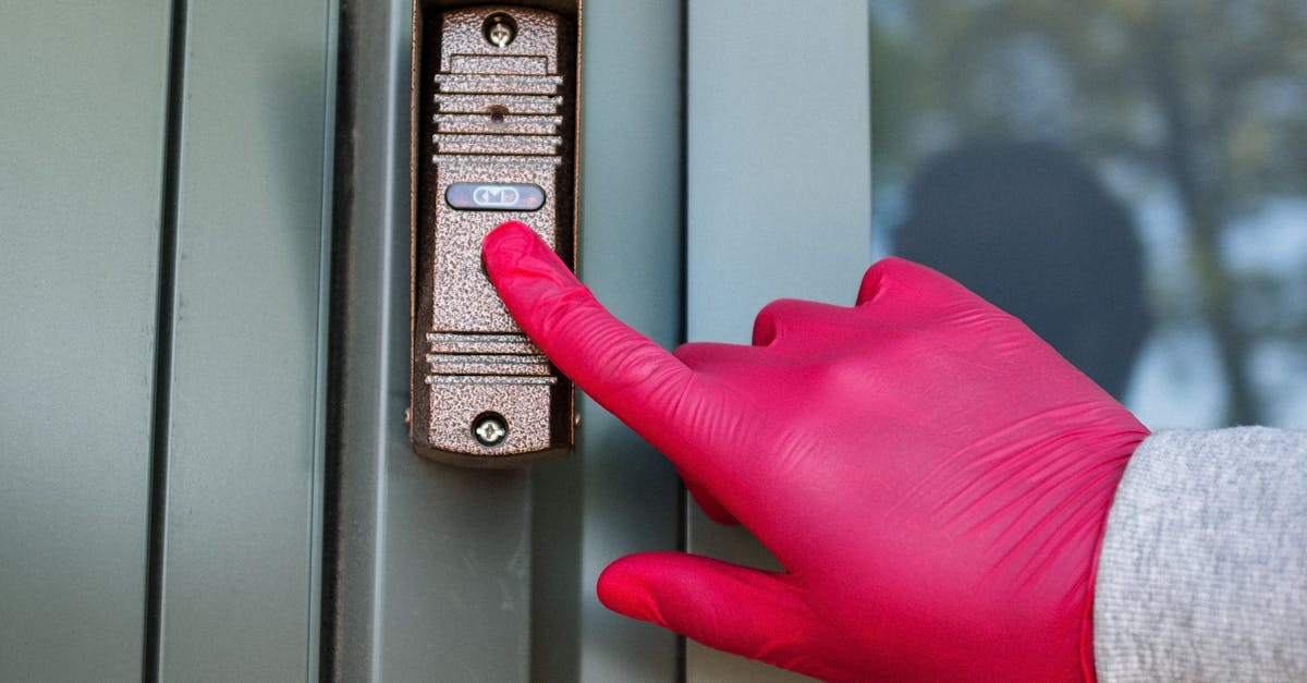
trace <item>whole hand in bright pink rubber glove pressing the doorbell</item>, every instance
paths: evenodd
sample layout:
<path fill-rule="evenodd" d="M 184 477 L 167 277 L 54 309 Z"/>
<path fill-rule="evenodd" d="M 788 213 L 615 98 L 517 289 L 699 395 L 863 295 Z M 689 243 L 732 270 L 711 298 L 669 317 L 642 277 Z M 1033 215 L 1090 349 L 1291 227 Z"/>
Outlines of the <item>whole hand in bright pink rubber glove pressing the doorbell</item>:
<path fill-rule="evenodd" d="M 485 241 L 523 330 L 780 560 L 613 563 L 608 607 L 830 680 L 1093 679 L 1095 560 L 1146 429 L 1021 322 L 906 260 L 853 307 L 776 301 L 674 355 L 521 224 Z"/>

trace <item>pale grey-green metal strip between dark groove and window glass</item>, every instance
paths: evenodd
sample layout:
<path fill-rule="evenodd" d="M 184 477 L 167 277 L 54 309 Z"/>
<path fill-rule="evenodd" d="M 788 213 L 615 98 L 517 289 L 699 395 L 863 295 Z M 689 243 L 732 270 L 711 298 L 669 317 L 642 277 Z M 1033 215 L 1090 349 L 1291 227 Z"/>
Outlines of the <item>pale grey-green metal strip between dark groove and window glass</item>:
<path fill-rule="evenodd" d="M 690 0 L 687 336 L 748 343 L 780 297 L 851 305 L 870 260 L 865 0 Z M 691 504 L 691 508 L 693 504 Z M 689 550 L 775 567 L 689 513 Z M 686 679 L 797 680 L 691 644 Z"/>

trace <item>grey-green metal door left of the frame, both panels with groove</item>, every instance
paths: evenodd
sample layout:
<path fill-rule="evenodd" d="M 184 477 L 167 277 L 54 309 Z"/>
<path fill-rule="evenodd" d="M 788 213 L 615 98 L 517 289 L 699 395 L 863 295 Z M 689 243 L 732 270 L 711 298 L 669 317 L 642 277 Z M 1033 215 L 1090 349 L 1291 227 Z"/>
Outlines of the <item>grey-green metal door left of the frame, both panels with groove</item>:
<path fill-rule="evenodd" d="M 316 678 L 336 16 L 0 8 L 0 679 Z"/>

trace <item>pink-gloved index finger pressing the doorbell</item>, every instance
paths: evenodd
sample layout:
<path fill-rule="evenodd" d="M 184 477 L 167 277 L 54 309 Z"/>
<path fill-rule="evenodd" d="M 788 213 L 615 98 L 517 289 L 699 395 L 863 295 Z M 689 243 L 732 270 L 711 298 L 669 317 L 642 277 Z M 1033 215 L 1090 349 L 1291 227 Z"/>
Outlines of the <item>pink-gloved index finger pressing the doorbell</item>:
<path fill-rule="evenodd" d="M 554 365 L 620 420 L 665 445 L 693 370 L 613 317 L 531 228 L 516 221 L 495 228 L 482 256 L 508 313 Z"/>

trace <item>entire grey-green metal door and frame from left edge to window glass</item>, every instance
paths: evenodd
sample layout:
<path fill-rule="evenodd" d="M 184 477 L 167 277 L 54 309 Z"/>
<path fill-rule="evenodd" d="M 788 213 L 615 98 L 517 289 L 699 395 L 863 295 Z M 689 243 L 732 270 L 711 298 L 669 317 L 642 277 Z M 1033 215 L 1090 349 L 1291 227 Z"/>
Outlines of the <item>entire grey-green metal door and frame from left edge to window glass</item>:
<path fill-rule="evenodd" d="M 865 7 L 826 4 L 586 3 L 582 273 L 667 347 L 842 300 L 759 287 L 799 245 L 864 266 Z M 584 398 L 562 462 L 408 446 L 409 16 L 0 9 L 0 678 L 774 675 L 599 606 L 626 552 L 759 556 Z"/>

